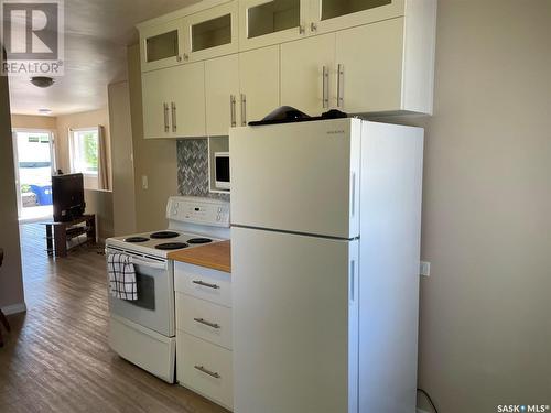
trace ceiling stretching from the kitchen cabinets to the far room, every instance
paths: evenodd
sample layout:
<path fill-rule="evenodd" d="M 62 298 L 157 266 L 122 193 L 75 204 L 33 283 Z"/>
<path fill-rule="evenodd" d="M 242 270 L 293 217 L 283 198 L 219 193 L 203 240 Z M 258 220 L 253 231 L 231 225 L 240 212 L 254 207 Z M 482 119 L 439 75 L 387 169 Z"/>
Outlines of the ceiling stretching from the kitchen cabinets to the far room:
<path fill-rule="evenodd" d="M 52 116 L 107 106 L 107 85 L 125 80 L 128 45 L 138 42 L 137 23 L 198 0 L 65 0 L 64 76 L 41 89 L 29 77 L 10 77 L 12 113 Z"/>

